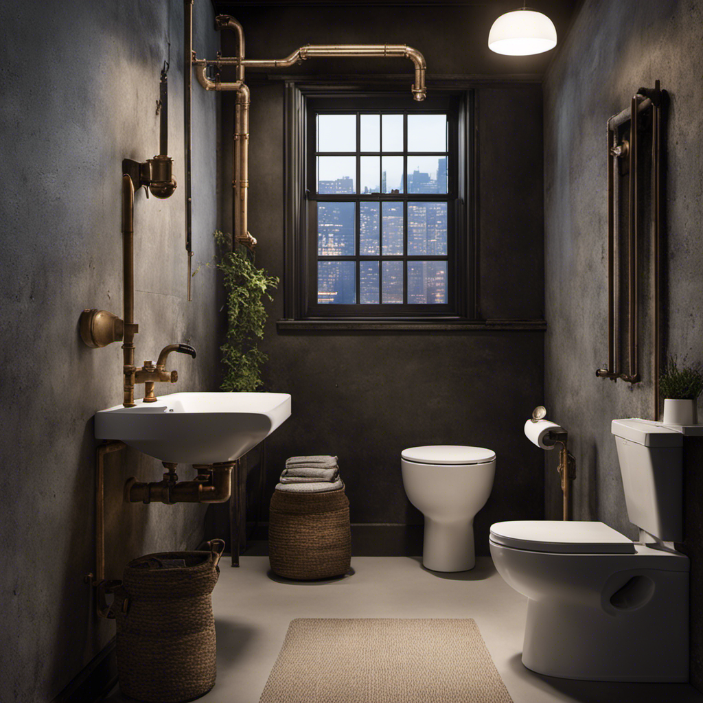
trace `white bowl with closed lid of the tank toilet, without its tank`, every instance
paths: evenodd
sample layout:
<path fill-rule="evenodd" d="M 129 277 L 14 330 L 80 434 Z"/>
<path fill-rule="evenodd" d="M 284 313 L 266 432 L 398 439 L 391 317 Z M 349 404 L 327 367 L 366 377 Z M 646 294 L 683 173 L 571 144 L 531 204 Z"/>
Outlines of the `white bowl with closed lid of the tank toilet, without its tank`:
<path fill-rule="evenodd" d="M 602 522 L 498 522 L 489 544 L 498 573 L 527 596 L 528 669 L 688 681 L 688 557 L 633 543 Z"/>

